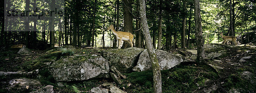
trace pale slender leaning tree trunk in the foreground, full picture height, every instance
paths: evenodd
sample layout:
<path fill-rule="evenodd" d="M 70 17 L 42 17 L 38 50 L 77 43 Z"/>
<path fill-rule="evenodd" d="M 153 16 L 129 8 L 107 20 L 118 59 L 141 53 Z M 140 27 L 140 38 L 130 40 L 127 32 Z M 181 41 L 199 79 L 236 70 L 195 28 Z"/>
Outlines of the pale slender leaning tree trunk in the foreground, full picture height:
<path fill-rule="evenodd" d="M 151 36 L 148 29 L 148 23 L 146 18 L 146 8 L 145 1 L 140 0 L 140 18 L 143 25 L 143 35 L 145 38 L 145 43 L 147 45 L 148 55 L 151 60 L 152 70 L 153 70 L 153 80 L 154 80 L 154 93 L 162 93 L 162 82 L 161 82 L 161 73 L 160 66 L 158 64 L 157 55 L 151 43 Z"/>

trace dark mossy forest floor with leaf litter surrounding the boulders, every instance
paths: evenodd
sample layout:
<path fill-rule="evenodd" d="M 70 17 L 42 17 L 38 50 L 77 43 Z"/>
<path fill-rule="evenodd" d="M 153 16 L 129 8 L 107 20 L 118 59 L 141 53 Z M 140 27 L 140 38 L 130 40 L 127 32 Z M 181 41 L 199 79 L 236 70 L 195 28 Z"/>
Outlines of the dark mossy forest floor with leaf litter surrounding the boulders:
<path fill-rule="evenodd" d="M 206 60 L 208 65 L 196 63 L 181 63 L 169 70 L 163 70 L 163 93 L 234 93 L 256 92 L 256 49 L 251 47 L 230 47 L 226 56 Z M 47 50 L 32 50 L 33 55 L 21 56 L 19 49 L 6 49 L 0 51 L 0 71 L 15 72 L 24 71 L 23 64 L 43 55 Z M 176 50 L 175 50 L 176 51 Z M 219 50 L 216 50 L 219 51 Z M 250 58 L 242 58 L 250 57 Z M 243 59 L 243 60 L 241 60 Z M 239 61 L 240 60 L 240 61 Z M 212 67 L 211 67 L 212 66 Z M 123 84 L 117 85 L 127 93 L 152 93 L 152 71 L 123 73 L 127 76 L 122 79 Z M 57 82 L 47 79 L 40 80 L 40 85 L 23 88 L 9 84 L 16 78 L 37 79 L 35 75 L 29 76 L 0 76 L 0 93 L 27 93 L 38 90 L 46 85 L 53 85 L 55 93 L 90 93 L 91 88 L 102 86 L 103 83 L 113 83 L 112 79 L 90 79 L 77 82 L 64 82 L 64 86 L 58 86 Z M 11 87 L 12 86 L 12 87 Z"/>

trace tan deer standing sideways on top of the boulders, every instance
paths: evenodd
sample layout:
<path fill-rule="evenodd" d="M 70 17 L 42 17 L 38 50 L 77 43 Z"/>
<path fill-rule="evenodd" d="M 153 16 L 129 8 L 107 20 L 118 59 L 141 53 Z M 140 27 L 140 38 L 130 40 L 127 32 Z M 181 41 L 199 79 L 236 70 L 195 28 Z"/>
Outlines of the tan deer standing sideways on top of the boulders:
<path fill-rule="evenodd" d="M 118 48 L 119 49 L 121 47 L 122 40 L 128 41 L 128 43 L 131 44 L 131 47 L 133 47 L 133 37 L 134 37 L 133 34 L 131 34 L 129 32 L 122 32 L 122 31 L 116 32 L 113 25 L 110 25 L 107 30 L 111 30 L 113 32 L 113 34 L 116 36 L 116 38 L 118 40 L 118 45 L 119 45 Z"/>

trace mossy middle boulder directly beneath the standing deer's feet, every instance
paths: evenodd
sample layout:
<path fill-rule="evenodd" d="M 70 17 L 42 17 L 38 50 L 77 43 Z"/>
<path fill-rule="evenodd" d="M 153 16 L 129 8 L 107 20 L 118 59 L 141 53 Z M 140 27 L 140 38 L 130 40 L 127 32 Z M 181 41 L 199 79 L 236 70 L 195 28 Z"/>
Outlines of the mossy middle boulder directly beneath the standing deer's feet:
<path fill-rule="evenodd" d="M 120 72 L 131 72 L 143 50 L 137 47 L 110 49 L 103 52 L 102 55 L 110 61 L 110 66 L 115 66 Z"/>

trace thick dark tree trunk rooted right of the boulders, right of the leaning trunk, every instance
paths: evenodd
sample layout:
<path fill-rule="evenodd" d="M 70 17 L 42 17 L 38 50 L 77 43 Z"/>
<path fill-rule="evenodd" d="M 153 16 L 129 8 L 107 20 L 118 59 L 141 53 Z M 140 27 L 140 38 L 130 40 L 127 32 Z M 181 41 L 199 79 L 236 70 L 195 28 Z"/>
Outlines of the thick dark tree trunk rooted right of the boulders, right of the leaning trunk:
<path fill-rule="evenodd" d="M 195 36 L 197 44 L 197 62 L 204 62 L 204 37 L 202 34 L 202 23 L 199 0 L 195 0 Z"/>

